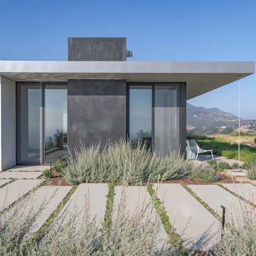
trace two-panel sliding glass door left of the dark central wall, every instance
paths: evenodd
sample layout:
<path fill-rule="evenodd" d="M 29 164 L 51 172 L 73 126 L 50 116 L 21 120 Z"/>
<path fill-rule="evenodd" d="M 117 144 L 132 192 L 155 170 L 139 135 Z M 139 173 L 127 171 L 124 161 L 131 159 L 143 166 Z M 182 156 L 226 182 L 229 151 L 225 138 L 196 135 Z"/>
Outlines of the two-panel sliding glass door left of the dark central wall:
<path fill-rule="evenodd" d="M 67 149 L 66 83 L 17 83 L 17 164 L 49 164 Z"/>

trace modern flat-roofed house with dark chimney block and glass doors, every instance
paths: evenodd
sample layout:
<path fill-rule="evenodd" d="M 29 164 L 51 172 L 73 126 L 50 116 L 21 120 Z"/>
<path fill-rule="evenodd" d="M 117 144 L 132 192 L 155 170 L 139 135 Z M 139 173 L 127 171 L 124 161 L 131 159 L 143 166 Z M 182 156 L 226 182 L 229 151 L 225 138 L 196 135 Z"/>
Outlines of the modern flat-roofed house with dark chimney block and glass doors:
<path fill-rule="evenodd" d="M 68 61 L 0 61 L 0 170 L 86 145 L 138 139 L 186 152 L 186 100 L 254 62 L 126 61 L 126 38 L 68 38 Z"/>

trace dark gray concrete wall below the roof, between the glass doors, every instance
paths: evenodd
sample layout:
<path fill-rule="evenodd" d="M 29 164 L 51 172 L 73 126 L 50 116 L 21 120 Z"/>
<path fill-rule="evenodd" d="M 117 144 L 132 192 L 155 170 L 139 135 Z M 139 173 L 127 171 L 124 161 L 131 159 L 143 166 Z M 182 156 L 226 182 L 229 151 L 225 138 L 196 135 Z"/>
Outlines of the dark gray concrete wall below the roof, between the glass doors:
<path fill-rule="evenodd" d="M 125 80 L 68 80 L 68 146 L 126 137 Z"/>

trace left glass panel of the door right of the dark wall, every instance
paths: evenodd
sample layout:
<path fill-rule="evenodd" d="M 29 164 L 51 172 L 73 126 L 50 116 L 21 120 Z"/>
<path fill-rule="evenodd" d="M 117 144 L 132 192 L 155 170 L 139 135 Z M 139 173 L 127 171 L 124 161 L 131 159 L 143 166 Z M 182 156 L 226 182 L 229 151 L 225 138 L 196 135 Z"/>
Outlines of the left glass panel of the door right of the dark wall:
<path fill-rule="evenodd" d="M 129 86 L 129 138 L 132 144 L 139 141 L 151 146 L 152 87 Z"/>

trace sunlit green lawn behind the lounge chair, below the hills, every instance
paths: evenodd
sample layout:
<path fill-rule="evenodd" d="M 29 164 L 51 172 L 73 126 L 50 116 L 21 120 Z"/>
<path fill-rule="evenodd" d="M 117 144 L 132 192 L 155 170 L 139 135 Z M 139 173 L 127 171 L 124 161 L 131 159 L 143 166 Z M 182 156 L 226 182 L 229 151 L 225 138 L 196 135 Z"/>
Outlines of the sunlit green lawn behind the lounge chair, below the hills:
<path fill-rule="evenodd" d="M 204 149 L 213 149 L 213 154 L 217 156 L 225 156 L 228 159 L 238 160 L 238 144 L 231 144 L 229 141 L 231 135 L 225 137 L 189 137 L 188 139 L 196 139 L 199 146 Z M 256 164 L 256 147 L 240 146 L 240 160 L 245 163 Z"/>

